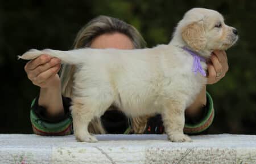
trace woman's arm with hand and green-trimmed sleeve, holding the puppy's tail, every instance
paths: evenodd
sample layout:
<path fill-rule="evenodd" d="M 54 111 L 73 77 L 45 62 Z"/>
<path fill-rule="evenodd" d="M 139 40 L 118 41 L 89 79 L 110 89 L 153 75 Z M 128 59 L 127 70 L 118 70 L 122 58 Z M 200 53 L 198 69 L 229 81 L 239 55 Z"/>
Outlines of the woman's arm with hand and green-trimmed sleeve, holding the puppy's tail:
<path fill-rule="evenodd" d="M 61 97 L 60 60 L 48 55 L 28 62 L 24 67 L 28 79 L 40 87 L 39 97 L 32 102 L 30 119 L 38 135 L 67 135 L 72 130 L 68 98 Z M 63 132 L 65 131 L 65 132 Z"/>

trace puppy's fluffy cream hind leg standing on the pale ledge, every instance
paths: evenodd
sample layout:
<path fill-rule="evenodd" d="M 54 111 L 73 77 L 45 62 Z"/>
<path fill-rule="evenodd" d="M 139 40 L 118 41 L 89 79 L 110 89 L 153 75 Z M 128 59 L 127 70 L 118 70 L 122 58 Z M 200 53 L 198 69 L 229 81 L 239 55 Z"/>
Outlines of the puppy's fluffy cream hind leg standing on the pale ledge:
<path fill-rule="evenodd" d="M 73 128 L 77 141 L 94 143 L 95 136 L 88 132 L 88 125 L 95 117 L 100 117 L 111 105 L 112 101 L 99 101 L 92 98 L 77 97 L 72 100 L 71 113 L 73 117 Z"/>

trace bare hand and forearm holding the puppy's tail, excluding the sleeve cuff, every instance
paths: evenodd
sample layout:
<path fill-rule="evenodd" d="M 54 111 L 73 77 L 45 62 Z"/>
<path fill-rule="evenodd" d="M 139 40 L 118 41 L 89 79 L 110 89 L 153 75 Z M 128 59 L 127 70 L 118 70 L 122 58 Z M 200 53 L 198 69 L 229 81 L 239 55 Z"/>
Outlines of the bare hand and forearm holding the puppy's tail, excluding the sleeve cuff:
<path fill-rule="evenodd" d="M 49 118 L 57 118 L 64 115 L 61 100 L 60 59 L 40 55 L 38 58 L 28 62 L 24 67 L 28 79 L 34 85 L 40 87 L 39 105 L 46 107 Z"/>

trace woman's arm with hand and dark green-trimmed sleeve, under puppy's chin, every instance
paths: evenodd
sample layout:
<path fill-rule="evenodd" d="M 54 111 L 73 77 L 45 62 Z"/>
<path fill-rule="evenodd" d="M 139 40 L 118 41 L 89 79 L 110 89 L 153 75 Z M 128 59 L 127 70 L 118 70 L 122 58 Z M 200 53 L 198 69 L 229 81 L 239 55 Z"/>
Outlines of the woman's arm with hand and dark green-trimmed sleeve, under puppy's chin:
<path fill-rule="evenodd" d="M 228 58 L 225 51 L 214 51 L 207 64 L 207 84 L 215 84 L 220 81 L 228 71 Z M 185 110 L 185 118 L 189 120 L 190 123 L 185 125 L 184 132 L 199 133 L 206 130 L 212 123 L 213 116 L 213 101 L 210 94 L 206 92 L 205 85 L 197 95 L 196 100 Z"/>

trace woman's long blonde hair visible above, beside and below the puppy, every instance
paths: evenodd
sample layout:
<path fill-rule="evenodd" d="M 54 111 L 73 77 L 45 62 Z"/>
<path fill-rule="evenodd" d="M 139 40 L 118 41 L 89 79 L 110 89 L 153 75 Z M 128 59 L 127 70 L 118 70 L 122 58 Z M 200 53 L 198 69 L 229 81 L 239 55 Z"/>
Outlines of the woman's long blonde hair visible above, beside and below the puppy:
<path fill-rule="evenodd" d="M 75 42 L 73 44 L 74 49 L 90 47 L 93 39 L 104 33 L 114 33 L 119 32 L 126 34 L 133 42 L 135 49 L 142 49 L 146 47 L 146 42 L 144 41 L 141 34 L 132 25 L 125 23 L 122 20 L 112 18 L 109 16 L 98 16 L 92 19 L 86 24 L 79 33 L 77 33 Z M 71 97 L 72 85 L 73 85 L 73 75 L 75 73 L 76 67 L 73 65 L 63 64 L 61 68 L 61 87 L 62 94 L 66 97 Z M 111 110 L 112 107 L 110 107 Z M 134 133 L 143 133 L 146 128 L 148 116 L 141 116 L 138 118 L 132 118 L 132 131 Z M 101 125 L 100 118 L 93 119 L 89 126 L 88 131 L 90 133 L 105 133 L 104 128 Z"/>

